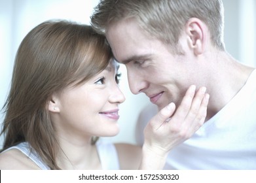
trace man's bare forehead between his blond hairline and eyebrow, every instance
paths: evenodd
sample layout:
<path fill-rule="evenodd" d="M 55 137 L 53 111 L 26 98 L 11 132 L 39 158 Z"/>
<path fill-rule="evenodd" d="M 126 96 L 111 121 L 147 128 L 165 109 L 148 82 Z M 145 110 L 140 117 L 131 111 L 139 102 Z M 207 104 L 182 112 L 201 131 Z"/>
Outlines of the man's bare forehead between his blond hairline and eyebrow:
<path fill-rule="evenodd" d="M 153 39 L 134 20 L 112 24 L 106 31 L 107 41 L 119 63 L 151 57 Z"/>

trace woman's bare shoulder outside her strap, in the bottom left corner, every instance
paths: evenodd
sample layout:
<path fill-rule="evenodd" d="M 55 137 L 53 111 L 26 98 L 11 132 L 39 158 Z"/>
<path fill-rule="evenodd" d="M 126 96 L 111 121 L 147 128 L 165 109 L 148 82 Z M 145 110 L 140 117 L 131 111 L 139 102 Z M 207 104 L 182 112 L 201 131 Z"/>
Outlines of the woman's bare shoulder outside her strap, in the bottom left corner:
<path fill-rule="evenodd" d="M 20 150 L 13 148 L 0 154 L 0 169 L 33 170 L 40 168 Z"/>

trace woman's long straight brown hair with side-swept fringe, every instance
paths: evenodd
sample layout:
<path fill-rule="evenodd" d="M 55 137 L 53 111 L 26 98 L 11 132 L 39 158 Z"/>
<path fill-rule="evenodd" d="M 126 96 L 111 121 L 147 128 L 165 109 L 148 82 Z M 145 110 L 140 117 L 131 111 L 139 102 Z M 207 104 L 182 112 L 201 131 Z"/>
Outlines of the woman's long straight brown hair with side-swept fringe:
<path fill-rule="evenodd" d="M 59 169 L 50 96 L 103 71 L 113 58 L 103 35 L 90 25 L 47 21 L 32 29 L 16 54 L 10 93 L 3 107 L 3 150 L 29 142 L 50 169 Z"/>

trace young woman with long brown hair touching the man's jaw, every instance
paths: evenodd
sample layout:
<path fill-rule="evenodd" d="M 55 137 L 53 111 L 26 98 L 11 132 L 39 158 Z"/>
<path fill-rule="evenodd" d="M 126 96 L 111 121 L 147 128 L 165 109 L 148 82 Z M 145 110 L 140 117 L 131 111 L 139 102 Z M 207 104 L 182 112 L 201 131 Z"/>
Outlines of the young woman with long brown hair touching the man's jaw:
<path fill-rule="evenodd" d="M 18 49 L 5 103 L 0 169 L 161 169 L 174 137 L 156 129 L 166 129 L 173 104 L 153 118 L 142 150 L 97 141 L 119 133 L 125 98 L 117 70 L 105 37 L 88 25 L 48 21 L 32 29 Z M 184 100 L 202 101 L 202 120 L 208 101 L 198 93 L 192 87 Z"/>

